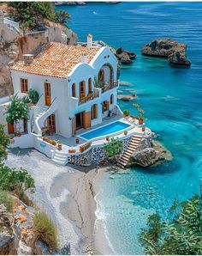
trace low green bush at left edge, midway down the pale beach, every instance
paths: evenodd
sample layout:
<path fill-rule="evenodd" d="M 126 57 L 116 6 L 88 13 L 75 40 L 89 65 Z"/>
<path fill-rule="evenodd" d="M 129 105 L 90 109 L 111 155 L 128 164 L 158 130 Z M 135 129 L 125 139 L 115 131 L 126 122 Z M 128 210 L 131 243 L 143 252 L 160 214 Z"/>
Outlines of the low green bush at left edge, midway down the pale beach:
<path fill-rule="evenodd" d="M 10 192 L 19 188 L 24 190 L 34 188 L 32 176 L 22 168 L 17 171 L 5 166 L 3 163 L 0 164 L 0 189 Z"/>

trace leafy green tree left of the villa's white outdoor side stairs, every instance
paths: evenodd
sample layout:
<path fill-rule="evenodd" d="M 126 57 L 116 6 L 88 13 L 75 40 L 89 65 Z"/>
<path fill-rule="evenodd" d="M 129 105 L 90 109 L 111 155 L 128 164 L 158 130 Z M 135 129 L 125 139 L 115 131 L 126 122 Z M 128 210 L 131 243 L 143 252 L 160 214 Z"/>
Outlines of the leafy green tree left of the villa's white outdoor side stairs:
<path fill-rule="evenodd" d="M 16 125 L 21 119 L 27 119 L 29 115 L 29 107 L 27 105 L 27 97 L 19 98 L 15 94 L 11 100 L 11 103 L 7 107 L 6 111 L 7 117 L 6 120 L 9 124 Z"/>

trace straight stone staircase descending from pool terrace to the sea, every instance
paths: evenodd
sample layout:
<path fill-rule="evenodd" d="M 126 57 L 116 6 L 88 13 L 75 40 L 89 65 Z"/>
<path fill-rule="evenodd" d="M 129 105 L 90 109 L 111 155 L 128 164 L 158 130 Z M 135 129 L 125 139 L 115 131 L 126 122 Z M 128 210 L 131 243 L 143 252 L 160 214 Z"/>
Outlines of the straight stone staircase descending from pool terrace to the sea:
<path fill-rule="evenodd" d="M 131 157 L 131 155 L 133 155 L 134 151 L 138 148 L 138 145 L 140 144 L 140 141 L 142 139 L 141 135 L 134 135 L 128 145 L 128 149 L 126 149 L 121 158 L 119 159 L 119 162 L 116 163 L 116 166 L 119 168 L 126 168 L 128 161 Z"/>

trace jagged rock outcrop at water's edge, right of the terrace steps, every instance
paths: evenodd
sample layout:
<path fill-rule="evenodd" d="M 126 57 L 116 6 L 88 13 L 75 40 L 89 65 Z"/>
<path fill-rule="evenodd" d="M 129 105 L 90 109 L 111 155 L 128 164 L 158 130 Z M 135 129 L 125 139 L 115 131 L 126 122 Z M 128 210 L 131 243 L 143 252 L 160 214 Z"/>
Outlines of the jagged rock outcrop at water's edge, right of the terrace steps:
<path fill-rule="evenodd" d="M 170 160 L 171 154 L 164 149 L 160 143 L 153 141 L 154 133 L 147 131 L 138 146 L 138 149 L 131 156 L 128 167 L 140 166 L 150 167 L 154 164 Z"/>

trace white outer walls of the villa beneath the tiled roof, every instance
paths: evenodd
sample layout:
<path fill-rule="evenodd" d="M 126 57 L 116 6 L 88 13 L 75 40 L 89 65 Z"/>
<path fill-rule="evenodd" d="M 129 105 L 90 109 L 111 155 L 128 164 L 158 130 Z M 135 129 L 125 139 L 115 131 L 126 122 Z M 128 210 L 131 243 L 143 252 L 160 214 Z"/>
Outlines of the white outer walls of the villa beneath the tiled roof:
<path fill-rule="evenodd" d="M 76 113 L 82 111 L 91 111 L 93 104 L 98 104 L 98 119 L 92 120 L 92 126 L 98 125 L 102 122 L 104 116 L 108 115 L 108 112 L 103 115 L 102 102 L 110 101 L 110 95 L 114 94 L 114 104 L 110 105 L 110 110 L 116 105 L 116 88 L 101 93 L 99 91 L 99 97 L 87 101 L 79 105 L 80 97 L 80 82 L 86 81 L 86 95 L 88 94 L 88 79 L 92 78 L 92 90 L 94 77 L 98 77 L 98 71 L 104 64 L 110 64 L 114 70 L 114 80 L 116 80 L 117 59 L 115 55 L 106 47 L 102 47 L 97 55 L 92 59 L 90 64 L 80 63 L 74 67 L 74 70 L 68 75 L 67 79 L 61 79 L 50 76 L 39 76 L 34 74 L 27 74 L 21 71 L 11 70 L 11 76 L 13 79 L 14 92 L 21 93 L 21 78 L 28 80 L 28 89 L 34 88 L 38 91 L 39 96 L 45 94 L 45 82 L 50 82 L 50 94 L 51 101 L 57 98 L 56 107 L 56 133 L 61 134 L 64 137 L 72 137 L 72 119 Z M 105 79 L 110 80 L 110 69 L 104 67 Z M 72 97 L 72 84 L 75 83 L 76 97 Z M 44 102 L 45 106 L 45 102 Z"/>

